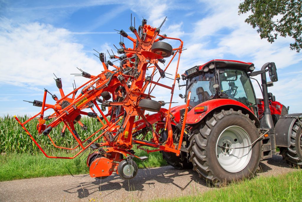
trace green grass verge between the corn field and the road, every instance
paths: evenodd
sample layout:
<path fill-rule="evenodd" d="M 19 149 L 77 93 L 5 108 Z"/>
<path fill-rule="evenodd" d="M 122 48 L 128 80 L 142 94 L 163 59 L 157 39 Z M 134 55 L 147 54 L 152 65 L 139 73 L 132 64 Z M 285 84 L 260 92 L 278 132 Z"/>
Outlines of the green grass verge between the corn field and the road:
<path fill-rule="evenodd" d="M 73 156 L 74 154 L 56 153 L 57 156 Z M 25 179 L 33 177 L 50 177 L 57 175 L 76 175 L 88 174 L 89 169 L 86 165 L 87 154 L 81 158 L 74 159 L 51 159 L 41 152 L 29 153 L 9 153 L 0 155 L 0 181 Z M 148 156 L 150 167 L 165 166 L 167 163 L 162 159 L 159 152 L 147 154 L 142 150 L 136 151 L 137 156 Z M 143 164 L 139 159 L 135 159 L 139 168 Z M 145 163 L 145 166 L 148 166 Z"/>

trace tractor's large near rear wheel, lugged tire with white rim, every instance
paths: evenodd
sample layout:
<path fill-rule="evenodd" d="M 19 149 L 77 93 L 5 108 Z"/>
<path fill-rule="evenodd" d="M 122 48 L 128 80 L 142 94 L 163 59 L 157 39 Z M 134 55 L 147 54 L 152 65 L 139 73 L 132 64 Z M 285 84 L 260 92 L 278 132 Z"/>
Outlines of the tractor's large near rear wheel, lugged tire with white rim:
<path fill-rule="evenodd" d="M 217 186 L 253 177 L 260 162 L 261 142 L 249 145 L 257 138 L 258 130 L 248 114 L 233 109 L 216 112 L 190 137 L 193 170 Z"/>

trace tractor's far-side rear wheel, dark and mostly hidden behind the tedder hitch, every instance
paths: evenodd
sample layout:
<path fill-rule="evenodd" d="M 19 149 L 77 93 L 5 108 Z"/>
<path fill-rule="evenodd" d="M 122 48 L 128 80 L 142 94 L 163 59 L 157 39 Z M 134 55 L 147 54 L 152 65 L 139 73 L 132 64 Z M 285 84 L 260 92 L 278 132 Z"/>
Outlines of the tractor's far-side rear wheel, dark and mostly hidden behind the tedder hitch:
<path fill-rule="evenodd" d="M 172 130 L 173 134 L 175 132 L 175 127 L 172 125 Z M 168 134 L 165 130 L 162 130 L 160 133 L 160 136 L 162 138 L 162 142 L 165 142 L 168 138 Z M 182 161 L 181 156 L 176 156 L 175 153 L 173 152 L 165 152 L 165 151 L 160 151 L 162 153 L 162 158 L 167 161 L 167 163 L 170 166 L 173 166 L 174 168 L 178 170 L 183 170 L 183 169 L 192 169 L 193 165 L 191 162 L 188 162 L 186 158 Z M 182 154 L 181 154 L 182 155 Z M 184 154 L 186 155 L 186 154 Z"/>

